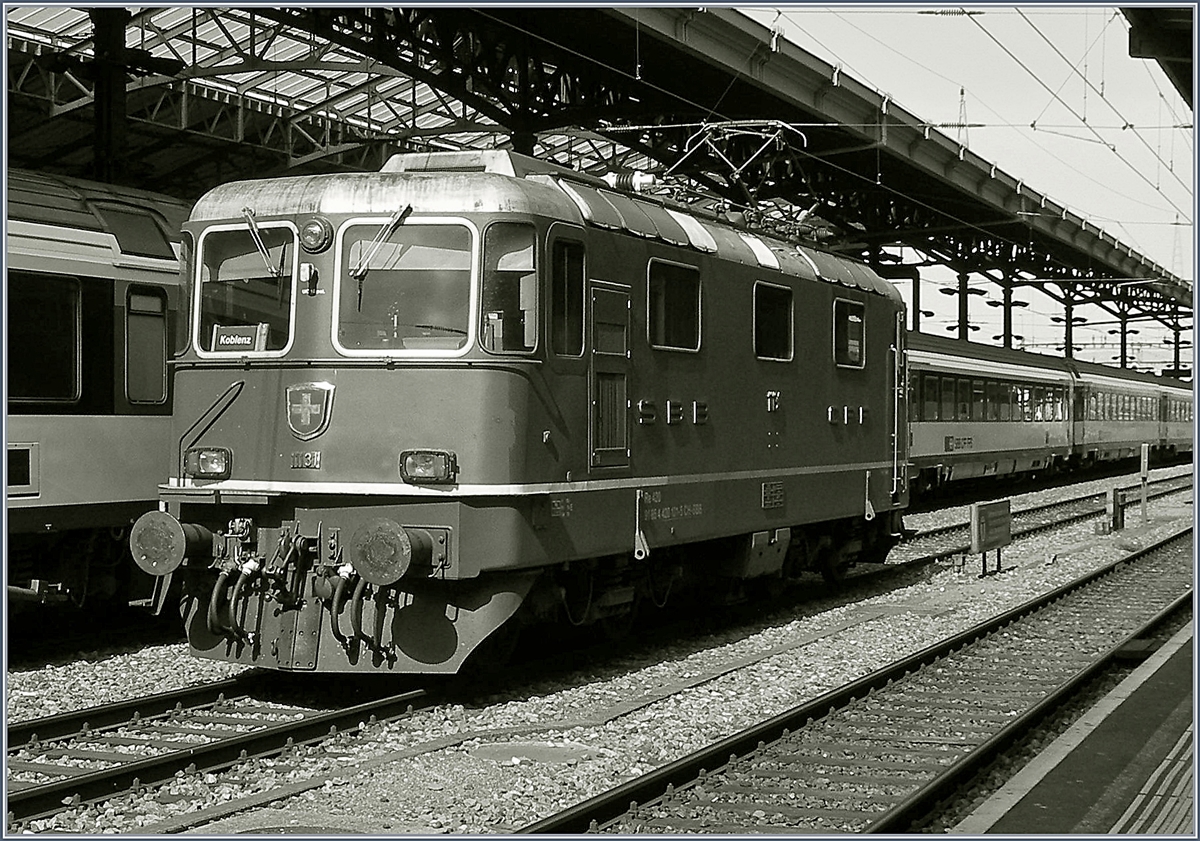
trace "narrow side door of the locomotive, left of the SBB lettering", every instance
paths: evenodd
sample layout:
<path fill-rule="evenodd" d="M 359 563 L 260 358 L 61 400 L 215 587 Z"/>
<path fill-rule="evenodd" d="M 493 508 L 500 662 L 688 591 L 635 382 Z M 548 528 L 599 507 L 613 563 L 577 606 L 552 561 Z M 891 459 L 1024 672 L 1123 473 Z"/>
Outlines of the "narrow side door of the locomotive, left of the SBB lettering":
<path fill-rule="evenodd" d="M 592 282 L 592 469 L 629 467 L 629 287 Z"/>

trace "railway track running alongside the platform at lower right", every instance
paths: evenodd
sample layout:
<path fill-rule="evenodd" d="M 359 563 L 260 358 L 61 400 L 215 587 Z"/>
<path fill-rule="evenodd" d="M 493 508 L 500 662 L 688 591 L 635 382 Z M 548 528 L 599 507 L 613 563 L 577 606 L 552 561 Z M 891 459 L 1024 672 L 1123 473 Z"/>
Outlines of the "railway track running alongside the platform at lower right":
<path fill-rule="evenodd" d="M 1192 599 L 1192 529 L 524 834 L 905 831 Z"/>

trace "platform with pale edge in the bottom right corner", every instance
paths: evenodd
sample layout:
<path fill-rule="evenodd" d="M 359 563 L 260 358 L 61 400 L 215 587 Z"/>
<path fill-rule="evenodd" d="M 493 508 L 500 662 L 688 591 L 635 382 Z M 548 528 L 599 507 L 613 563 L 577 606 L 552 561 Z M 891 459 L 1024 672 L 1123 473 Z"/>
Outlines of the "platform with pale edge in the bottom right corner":
<path fill-rule="evenodd" d="M 952 833 L 1195 837 L 1188 625 Z"/>

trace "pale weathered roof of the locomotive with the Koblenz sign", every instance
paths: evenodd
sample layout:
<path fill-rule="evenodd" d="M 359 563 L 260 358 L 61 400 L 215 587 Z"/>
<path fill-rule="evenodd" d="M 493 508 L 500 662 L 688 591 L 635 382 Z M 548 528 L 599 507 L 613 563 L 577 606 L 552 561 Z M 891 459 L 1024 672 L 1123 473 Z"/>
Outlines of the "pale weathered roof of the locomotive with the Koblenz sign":
<path fill-rule="evenodd" d="M 620 192 L 598 178 L 505 150 L 392 156 L 378 173 L 234 181 L 209 191 L 192 221 L 259 220 L 296 214 L 517 212 L 622 230 L 676 247 L 715 253 L 766 272 L 823 280 L 900 302 L 895 287 L 845 257 L 788 242 Z"/>

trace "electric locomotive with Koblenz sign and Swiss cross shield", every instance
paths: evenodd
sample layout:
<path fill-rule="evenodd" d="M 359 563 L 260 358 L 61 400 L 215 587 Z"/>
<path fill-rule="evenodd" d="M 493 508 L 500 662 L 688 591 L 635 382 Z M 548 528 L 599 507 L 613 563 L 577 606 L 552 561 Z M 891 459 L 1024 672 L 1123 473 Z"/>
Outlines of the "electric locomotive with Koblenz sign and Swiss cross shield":
<path fill-rule="evenodd" d="M 904 302 L 863 265 L 505 151 L 227 184 L 185 233 L 130 545 L 194 655 L 450 673 L 901 531 Z"/>

